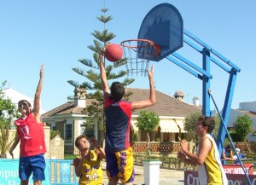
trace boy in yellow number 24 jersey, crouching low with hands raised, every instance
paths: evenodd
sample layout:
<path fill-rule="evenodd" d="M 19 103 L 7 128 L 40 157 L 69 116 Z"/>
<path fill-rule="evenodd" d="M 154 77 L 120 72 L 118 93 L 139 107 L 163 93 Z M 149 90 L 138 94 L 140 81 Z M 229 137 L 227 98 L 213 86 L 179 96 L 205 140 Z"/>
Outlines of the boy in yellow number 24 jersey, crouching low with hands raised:
<path fill-rule="evenodd" d="M 90 142 L 95 150 L 90 150 Z M 101 160 L 106 158 L 106 154 L 95 137 L 90 142 L 84 135 L 76 138 L 75 146 L 79 149 L 79 156 L 73 159 L 73 165 L 76 175 L 80 176 L 79 185 L 102 185 Z"/>

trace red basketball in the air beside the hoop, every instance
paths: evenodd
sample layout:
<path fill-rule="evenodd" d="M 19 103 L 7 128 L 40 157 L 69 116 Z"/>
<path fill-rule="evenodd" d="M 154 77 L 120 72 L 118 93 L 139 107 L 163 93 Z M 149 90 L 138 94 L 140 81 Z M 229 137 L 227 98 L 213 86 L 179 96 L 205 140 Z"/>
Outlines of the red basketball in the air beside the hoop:
<path fill-rule="evenodd" d="M 123 49 L 116 43 L 110 43 L 105 51 L 108 61 L 119 61 L 123 56 Z"/>

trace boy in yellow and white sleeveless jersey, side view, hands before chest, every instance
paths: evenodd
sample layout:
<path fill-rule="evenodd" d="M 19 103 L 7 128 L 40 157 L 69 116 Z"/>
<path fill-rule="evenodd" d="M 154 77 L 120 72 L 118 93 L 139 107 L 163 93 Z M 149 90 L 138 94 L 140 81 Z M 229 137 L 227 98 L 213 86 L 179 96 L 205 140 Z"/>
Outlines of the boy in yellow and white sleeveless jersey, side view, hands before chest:
<path fill-rule="evenodd" d="M 211 117 L 200 117 L 195 125 L 195 132 L 200 136 L 196 154 L 189 152 L 186 140 L 181 141 L 182 152 L 178 158 L 189 165 L 197 165 L 200 185 L 227 185 L 227 177 L 220 162 L 218 147 L 213 140 L 212 130 L 215 123 Z"/>

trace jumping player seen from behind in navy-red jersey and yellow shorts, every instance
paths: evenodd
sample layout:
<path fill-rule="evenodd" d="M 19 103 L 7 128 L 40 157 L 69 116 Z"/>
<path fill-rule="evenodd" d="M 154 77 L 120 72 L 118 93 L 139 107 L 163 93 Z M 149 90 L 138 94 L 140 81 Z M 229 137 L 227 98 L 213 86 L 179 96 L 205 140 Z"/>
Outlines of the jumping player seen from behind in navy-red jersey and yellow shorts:
<path fill-rule="evenodd" d="M 108 47 L 108 45 L 106 46 Z M 125 185 L 132 185 L 134 182 L 134 169 L 132 159 L 132 148 L 130 147 L 130 125 L 131 112 L 136 109 L 153 106 L 154 95 L 154 66 L 148 71 L 149 98 L 144 101 L 125 101 L 124 84 L 113 82 L 109 89 L 105 66 L 102 62 L 104 48 L 99 55 L 102 90 L 104 93 L 104 111 L 106 116 L 106 161 L 108 185 L 116 185 L 119 180 Z"/>

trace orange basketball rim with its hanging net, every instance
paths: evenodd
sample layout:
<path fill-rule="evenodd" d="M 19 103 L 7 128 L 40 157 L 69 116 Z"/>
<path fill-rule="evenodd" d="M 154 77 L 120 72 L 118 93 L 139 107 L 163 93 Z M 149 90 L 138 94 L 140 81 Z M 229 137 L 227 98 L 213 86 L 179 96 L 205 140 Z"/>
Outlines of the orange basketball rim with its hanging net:
<path fill-rule="evenodd" d="M 126 70 L 131 76 L 146 75 L 149 61 L 160 55 L 160 46 L 147 39 L 125 40 L 121 44 L 126 59 Z"/>

